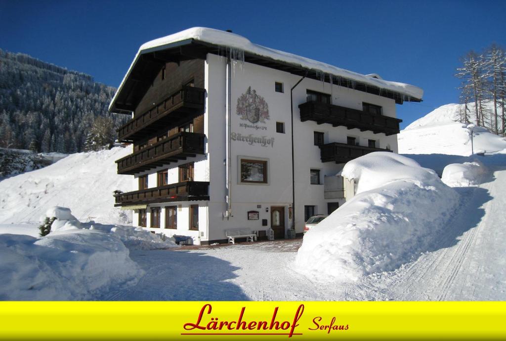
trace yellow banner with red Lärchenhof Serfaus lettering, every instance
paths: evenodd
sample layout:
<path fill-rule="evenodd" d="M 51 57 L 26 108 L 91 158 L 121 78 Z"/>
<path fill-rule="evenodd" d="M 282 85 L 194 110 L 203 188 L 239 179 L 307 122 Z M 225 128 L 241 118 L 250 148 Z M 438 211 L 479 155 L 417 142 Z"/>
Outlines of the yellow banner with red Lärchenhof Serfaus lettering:
<path fill-rule="evenodd" d="M 504 339 L 503 302 L 0 302 L 0 339 Z"/>

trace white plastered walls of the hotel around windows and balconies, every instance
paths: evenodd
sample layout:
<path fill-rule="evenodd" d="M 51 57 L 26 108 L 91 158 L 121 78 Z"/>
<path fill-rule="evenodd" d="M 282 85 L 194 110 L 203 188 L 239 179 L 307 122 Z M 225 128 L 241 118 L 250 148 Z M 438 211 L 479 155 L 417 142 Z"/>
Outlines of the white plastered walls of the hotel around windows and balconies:
<path fill-rule="evenodd" d="M 191 236 L 195 244 L 213 243 L 226 239 L 225 230 L 249 228 L 268 230 L 271 226 L 272 207 L 283 207 L 284 228 L 294 224 L 297 233 L 304 229 L 305 206 L 315 206 L 315 213 L 327 214 L 327 203 L 337 202 L 341 206 L 344 199 L 325 199 L 325 176 L 334 176 L 344 164 L 321 162 L 320 148 L 314 145 L 314 132 L 324 133 L 324 143 L 347 143 L 347 137 L 355 137 L 361 146 L 368 140 L 376 141 L 376 147 L 389 148 L 397 152 L 397 136 L 374 134 L 371 131 L 348 129 L 330 124 L 317 124 L 313 121 L 301 122 L 299 104 L 307 101 L 307 90 L 326 93 L 331 96 L 331 104 L 362 110 L 367 102 L 382 107 L 384 116 L 396 117 L 395 100 L 387 97 L 349 89 L 329 83 L 306 78 L 293 90 L 293 149 L 295 207 L 292 206 L 292 146 L 291 146 L 291 108 L 290 89 L 301 80 L 299 75 L 248 62 L 233 63 L 231 72 L 231 216 L 226 217 L 226 103 L 227 103 L 227 58 L 207 54 L 205 60 L 206 105 L 204 113 L 204 133 L 206 135 L 205 155 L 197 155 L 195 162 L 195 181 L 209 181 L 209 201 L 187 201 L 177 203 L 150 204 L 161 207 L 161 226 L 151 231 L 162 232 L 167 236 Z M 275 83 L 282 83 L 283 92 L 275 91 Z M 251 123 L 241 119 L 236 112 L 237 100 L 246 89 L 255 90 L 268 104 L 269 119 Z M 284 124 L 285 133 L 276 132 L 276 122 Z M 240 134 L 240 135 L 239 135 Z M 251 136 L 250 136 L 251 135 Z M 242 137 L 246 136 L 247 140 Z M 250 137 L 263 139 L 263 142 L 250 141 Z M 270 143 L 267 143 L 270 141 Z M 267 183 L 241 183 L 240 160 L 267 161 Z M 137 188 L 139 175 L 148 174 L 148 186 L 156 186 L 156 173 L 168 169 L 168 183 L 178 182 L 178 165 L 171 163 L 165 167 L 152 169 L 135 176 Z M 320 170 L 320 184 L 310 183 L 310 171 Z M 199 231 L 189 230 L 189 207 L 199 205 Z M 177 229 L 165 229 L 165 206 L 177 206 Z M 147 226 L 150 226 L 148 207 Z M 258 220 L 248 220 L 248 211 L 258 211 Z M 138 213 L 134 213 L 134 225 L 138 223 Z M 263 225 L 263 219 L 267 224 Z M 264 222 L 265 223 L 265 222 Z"/>

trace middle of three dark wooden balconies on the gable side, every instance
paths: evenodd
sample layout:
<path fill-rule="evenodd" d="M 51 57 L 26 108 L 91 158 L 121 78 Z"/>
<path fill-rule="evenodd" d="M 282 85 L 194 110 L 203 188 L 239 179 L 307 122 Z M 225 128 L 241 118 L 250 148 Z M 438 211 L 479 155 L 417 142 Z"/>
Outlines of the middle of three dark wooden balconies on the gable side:
<path fill-rule="evenodd" d="M 118 174 L 136 174 L 204 154 L 204 134 L 180 132 L 116 161 Z"/>

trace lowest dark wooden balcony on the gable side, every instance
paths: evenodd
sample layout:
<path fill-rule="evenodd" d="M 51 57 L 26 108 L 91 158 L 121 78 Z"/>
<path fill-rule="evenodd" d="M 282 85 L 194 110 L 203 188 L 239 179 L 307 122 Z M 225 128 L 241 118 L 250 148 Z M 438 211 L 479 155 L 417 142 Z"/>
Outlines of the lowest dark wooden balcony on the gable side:
<path fill-rule="evenodd" d="M 185 181 L 114 195 L 114 206 L 209 200 L 208 181 Z"/>

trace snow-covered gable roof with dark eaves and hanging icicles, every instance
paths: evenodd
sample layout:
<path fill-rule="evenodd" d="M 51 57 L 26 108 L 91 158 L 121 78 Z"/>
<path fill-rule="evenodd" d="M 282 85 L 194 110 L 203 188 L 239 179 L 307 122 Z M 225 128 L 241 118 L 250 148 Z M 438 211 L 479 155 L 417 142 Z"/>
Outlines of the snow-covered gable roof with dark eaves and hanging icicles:
<path fill-rule="evenodd" d="M 110 111 L 133 110 L 140 100 L 133 93 L 145 92 L 149 77 L 154 77 L 167 61 L 205 58 L 206 53 L 232 54 L 238 59 L 306 75 L 403 101 L 420 102 L 424 91 L 413 85 L 385 81 L 377 74 L 361 74 L 291 53 L 251 43 L 245 37 L 222 30 L 193 27 L 143 44 L 126 72 L 109 105 Z M 190 56 L 190 57 L 188 57 Z M 137 77 L 136 77 L 137 75 Z M 144 90 L 143 90 L 144 89 Z"/>

